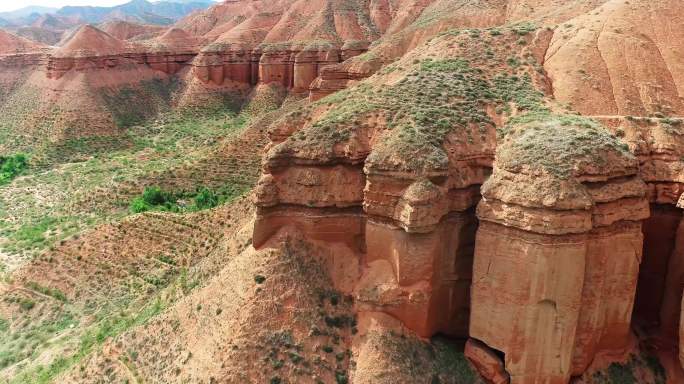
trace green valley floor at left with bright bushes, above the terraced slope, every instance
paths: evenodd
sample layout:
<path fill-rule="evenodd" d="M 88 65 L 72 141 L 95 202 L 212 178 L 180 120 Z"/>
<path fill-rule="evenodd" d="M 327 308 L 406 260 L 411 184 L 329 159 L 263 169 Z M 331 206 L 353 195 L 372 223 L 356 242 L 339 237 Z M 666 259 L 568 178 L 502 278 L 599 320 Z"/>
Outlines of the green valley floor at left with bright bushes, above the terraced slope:
<path fill-rule="evenodd" d="M 42 165 L 26 169 L 25 177 L 11 184 L 0 183 L 2 251 L 28 259 L 55 242 L 124 217 L 141 184 L 182 191 L 191 198 L 188 205 L 198 209 L 243 194 L 256 183 L 258 160 L 253 168 L 216 165 L 220 177 L 191 167 L 200 164 L 211 169 L 202 162 L 209 164 L 208 157 L 222 139 L 240 133 L 251 116 L 275 108 L 272 102 L 259 100 L 259 104 L 240 114 L 222 106 L 183 109 L 131 127 L 119 137 L 69 140 L 37 150 L 41 153 L 31 154 L 31 163 L 37 159 Z M 174 175 L 183 169 L 190 172 L 182 179 Z M 165 182 L 167 178 L 187 185 L 176 186 Z M 207 190 L 198 190 L 193 183 Z"/>

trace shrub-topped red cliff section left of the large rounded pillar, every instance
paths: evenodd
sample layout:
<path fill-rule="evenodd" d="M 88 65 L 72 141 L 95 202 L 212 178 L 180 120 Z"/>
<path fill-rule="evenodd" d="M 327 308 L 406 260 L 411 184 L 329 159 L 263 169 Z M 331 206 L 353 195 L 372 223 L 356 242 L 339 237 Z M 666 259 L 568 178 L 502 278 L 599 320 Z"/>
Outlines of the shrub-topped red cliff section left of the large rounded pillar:
<path fill-rule="evenodd" d="M 360 322 L 390 314 L 422 337 L 468 334 L 474 207 L 492 166 L 499 119 L 489 92 L 495 81 L 532 82 L 529 73 L 513 79 L 502 72 L 506 80 L 481 74 L 486 59 L 448 40 L 430 51 L 448 49 L 448 57 L 463 59 L 433 62 L 427 52 L 405 58 L 376 82 L 276 122 L 257 188 L 255 246 L 289 226 L 344 245 L 340 254 L 353 260 L 347 264 L 359 265 L 345 287 L 356 297 Z M 421 116 L 431 97 L 443 109 Z"/>

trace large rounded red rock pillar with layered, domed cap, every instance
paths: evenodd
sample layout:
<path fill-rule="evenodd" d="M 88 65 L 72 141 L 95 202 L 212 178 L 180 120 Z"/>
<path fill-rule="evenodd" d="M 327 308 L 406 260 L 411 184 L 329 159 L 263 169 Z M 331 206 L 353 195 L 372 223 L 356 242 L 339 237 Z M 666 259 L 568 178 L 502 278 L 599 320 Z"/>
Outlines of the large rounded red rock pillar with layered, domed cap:
<path fill-rule="evenodd" d="M 636 158 L 596 127 L 553 124 L 507 135 L 477 210 L 470 335 L 505 356 L 514 384 L 567 383 L 628 347 L 649 217 Z M 591 150 L 568 158 L 586 135 Z"/>

